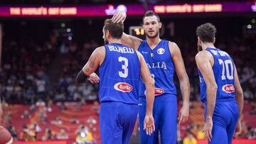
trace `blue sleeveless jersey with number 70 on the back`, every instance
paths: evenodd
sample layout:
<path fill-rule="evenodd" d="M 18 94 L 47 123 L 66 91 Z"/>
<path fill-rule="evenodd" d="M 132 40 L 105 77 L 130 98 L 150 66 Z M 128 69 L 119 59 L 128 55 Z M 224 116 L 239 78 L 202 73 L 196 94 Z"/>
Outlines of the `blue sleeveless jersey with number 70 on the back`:
<path fill-rule="evenodd" d="M 215 82 L 218 86 L 216 101 L 220 99 L 234 99 L 235 98 L 235 75 L 234 62 L 227 52 L 218 48 L 206 48 L 208 52 L 213 55 L 214 65 L 213 73 Z M 201 89 L 201 101 L 206 102 L 206 82 L 203 75 L 198 70 Z"/>

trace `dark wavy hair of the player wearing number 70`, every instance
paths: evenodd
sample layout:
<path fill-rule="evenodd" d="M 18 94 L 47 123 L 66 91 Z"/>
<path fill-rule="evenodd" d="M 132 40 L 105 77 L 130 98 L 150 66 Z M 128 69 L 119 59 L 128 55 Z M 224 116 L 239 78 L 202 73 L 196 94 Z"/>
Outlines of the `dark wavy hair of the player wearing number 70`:
<path fill-rule="evenodd" d="M 212 23 L 205 23 L 196 28 L 196 35 L 203 41 L 213 43 L 216 34 L 216 28 Z"/>

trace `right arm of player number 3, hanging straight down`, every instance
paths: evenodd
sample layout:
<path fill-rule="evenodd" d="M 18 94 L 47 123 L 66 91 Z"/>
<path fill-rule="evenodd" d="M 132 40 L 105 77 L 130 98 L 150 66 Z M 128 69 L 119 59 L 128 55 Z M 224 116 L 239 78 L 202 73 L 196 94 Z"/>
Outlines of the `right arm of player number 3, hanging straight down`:
<path fill-rule="evenodd" d="M 155 131 L 154 118 L 153 118 L 153 106 L 154 106 L 154 81 L 151 78 L 149 68 L 146 66 L 146 62 L 141 53 L 138 51 L 139 62 L 141 65 L 140 74 L 142 81 L 146 86 L 146 116 L 144 118 L 144 130 L 146 134 L 151 135 Z"/>

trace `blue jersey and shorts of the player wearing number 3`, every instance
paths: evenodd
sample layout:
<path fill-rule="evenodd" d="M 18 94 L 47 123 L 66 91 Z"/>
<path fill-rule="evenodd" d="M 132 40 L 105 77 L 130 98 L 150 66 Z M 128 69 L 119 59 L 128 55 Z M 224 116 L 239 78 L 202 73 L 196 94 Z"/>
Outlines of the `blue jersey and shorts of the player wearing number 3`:
<path fill-rule="evenodd" d="M 140 63 L 126 45 L 105 45 L 100 66 L 100 135 L 103 144 L 127 144 L 138 113 Z"/>

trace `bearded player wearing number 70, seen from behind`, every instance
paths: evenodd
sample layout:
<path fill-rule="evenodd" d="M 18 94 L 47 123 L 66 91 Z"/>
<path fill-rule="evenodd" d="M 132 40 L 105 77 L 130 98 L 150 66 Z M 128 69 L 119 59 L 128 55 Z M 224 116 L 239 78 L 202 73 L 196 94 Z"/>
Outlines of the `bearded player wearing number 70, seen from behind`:
<path fill-rule="evenodd" d="M 201 101 L 205 104 L 203 131 L 210 144 L 230 144 L 233 135 L 241 131 L 243 94 L 232 58 L 214 46 L 215 33 L 216 28 L 211 23 L 196 29 L 196 65 Z"/>

